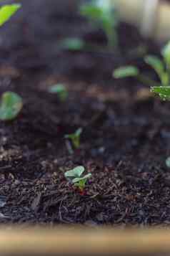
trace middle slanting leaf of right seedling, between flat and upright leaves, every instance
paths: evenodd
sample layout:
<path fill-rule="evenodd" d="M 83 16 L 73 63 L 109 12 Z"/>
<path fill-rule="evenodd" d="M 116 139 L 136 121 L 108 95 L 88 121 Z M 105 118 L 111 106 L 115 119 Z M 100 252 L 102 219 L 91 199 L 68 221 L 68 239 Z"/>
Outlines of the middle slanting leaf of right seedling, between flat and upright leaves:
<path fill-rule="evenodd" d="M 150 65 L 156 73 L 159 75 L 160 79 L 164 74 L 164 63 L 156 56 L 146 56 L 144 58 L 146 64 Z"/>

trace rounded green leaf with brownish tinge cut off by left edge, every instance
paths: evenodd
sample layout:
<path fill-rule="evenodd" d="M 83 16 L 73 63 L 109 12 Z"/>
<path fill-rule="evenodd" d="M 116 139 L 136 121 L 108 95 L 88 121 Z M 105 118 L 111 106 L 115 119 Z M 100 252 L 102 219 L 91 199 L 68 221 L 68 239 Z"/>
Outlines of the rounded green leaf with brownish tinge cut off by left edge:
<path fill-rule="evenodd" d="M 6 92 L 1 96 L 0 120 L 13 120 L 23 107 L 22 98 L 16 93 Z"/>

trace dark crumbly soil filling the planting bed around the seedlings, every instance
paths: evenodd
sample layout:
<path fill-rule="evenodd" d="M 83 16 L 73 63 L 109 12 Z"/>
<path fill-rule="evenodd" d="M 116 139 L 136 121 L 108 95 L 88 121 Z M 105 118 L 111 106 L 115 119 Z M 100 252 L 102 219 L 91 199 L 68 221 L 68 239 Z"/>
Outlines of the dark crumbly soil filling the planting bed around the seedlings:
<path fill-rule="evenodd" d="M 170 105 L 111 75 L 131 63 L 154 76 L 131 50 L 159 49 L 126 24 L 121 55 L 61 51 L 59 40 L 73 36 L 106 42 L 73 0 L 23 1 L 1 29 L 0 90 L 24 98 L 19 118 L 0 123 L 1 223 L 169 225 Z M 57 82 L 69 90 L 66 103 L 47 93 Z M 81 147 L 70 155 L 64 135 L 79 127 Z M 64 179 L 78 165 L 92 174 L 84 195 Z"/>

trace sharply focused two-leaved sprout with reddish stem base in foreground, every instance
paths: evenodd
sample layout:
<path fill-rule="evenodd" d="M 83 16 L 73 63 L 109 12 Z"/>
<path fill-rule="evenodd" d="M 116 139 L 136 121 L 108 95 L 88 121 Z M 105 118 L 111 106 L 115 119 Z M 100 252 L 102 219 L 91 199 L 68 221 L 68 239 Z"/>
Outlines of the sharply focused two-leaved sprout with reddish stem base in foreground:
<path fill-rule="evenodd" d="M 84 166 L 77 166 L 70 171 L 66 171 L 64 176 L 66 177 L 66 179 L 69 179 L 69 181 L 71 181 L 71 184 L 77 186 L 80 191 L 84 191 L 86 181 L 91 177 L 91 174 L 86 174 L 85 176 L 82 176 L 82 174 L 84 174 L 84 171 Z"/>

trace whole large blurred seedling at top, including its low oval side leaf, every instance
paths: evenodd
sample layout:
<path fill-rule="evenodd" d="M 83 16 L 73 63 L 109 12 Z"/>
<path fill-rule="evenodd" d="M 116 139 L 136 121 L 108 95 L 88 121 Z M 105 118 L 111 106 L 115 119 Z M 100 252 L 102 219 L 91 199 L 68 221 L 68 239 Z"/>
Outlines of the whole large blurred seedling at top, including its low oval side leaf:
<path fill-rule="evenodd" d="M 119 18 L 116 8 L 111 0 L 91 0 L 81 4 L 79 13 L 84 16 L 96 29 L 103 29 L 107 38 L 107 49 L 118 49 L 118 34 L 116 28 Z M 101 47 L 94 43 L 85 42 L 84 39 L 70 37 L 59 42 L 59 47 L 69 51 L 103 51 Z"/>

